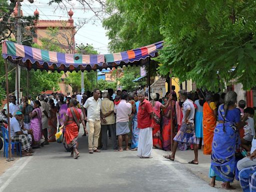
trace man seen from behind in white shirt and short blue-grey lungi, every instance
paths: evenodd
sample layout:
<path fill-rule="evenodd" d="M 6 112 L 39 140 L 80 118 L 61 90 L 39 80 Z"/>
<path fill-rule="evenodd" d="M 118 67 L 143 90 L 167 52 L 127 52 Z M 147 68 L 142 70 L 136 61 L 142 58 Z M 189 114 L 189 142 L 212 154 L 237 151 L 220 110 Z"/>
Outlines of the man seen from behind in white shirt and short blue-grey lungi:
<path fill-rule="evenodd" d="M 114 113 L 116 113 L 116 135 L 118 136 L 119 151 L 122 149 L 122 135 L 125 138 L 125 150 L 128 148 L 129 140 L 129 115 L 131 114 L 131 104 L 126 102 L 128 94 L 122 92 L 121 101 L 114 106 Z"/>

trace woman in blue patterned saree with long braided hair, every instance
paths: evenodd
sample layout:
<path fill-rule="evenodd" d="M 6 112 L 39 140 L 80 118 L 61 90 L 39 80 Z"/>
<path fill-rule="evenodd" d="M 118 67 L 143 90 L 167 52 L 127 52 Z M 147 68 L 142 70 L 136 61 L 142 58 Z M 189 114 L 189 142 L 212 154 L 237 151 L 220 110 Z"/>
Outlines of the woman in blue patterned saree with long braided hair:
<path fill-rule="evenodd" d="M 236 167 L 235 149 L 239 144 L 238 129 L 244 125 L 246 117 L 240 120 L 240 111 L 236 108 L 237 94 L 234 91 L 226 93 L 224 104 L 218 108 L 218 124 L 214 129 L 211 152 L 210 186 L 215 185 L 215 179 L 224 181 L 226 189 L 232 189 L 230 181 L 234 179 Z"/>

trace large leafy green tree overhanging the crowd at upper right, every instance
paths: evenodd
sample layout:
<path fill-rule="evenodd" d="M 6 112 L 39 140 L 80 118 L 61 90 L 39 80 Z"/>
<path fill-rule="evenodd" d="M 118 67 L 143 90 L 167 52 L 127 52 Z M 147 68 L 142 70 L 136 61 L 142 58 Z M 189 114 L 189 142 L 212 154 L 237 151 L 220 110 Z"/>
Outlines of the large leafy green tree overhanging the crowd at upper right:
<path fill-rule="evenodd" d="M 180 81 L 192 79 L 209 90 L 231 79 L 245 89 L 255 85 L 256 1 L 126 0 L 123 7 L 137 30 L 159 24 L 164 39 L 157 58 L 160 74 L 172 68 Z"/>

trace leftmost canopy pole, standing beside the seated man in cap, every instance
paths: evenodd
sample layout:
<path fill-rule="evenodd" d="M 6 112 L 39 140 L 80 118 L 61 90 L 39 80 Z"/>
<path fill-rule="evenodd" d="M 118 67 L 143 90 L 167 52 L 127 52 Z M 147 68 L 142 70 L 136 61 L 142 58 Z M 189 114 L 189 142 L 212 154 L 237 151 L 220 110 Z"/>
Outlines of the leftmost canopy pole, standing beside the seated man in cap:
<path fill-rule="evenodd" d="M 6 100 L 7 100 L 7 119 L 8 119 L 8 158 L 7 161 L 14 160 L 11 156 L 11 144 L 10 144 L 10 109 L 9 109 L 9 84 L 8 84 L 8 66 L 7 61 L 4 59 L 5 66 L 5 84 L 6 84 Z"/>

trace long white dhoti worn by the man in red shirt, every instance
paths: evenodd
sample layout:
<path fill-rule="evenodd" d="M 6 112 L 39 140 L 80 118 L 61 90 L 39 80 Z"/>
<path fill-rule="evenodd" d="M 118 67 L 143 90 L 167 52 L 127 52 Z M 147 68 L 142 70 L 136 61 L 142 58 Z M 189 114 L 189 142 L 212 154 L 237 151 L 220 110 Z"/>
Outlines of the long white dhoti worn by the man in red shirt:
<path fill-rule="evenodd" d="M 140 128 L 137 149 L 138 156 L 144 158 L 152 157 L 152 147 L 152 127 Z"/>

